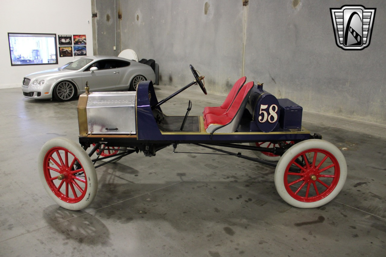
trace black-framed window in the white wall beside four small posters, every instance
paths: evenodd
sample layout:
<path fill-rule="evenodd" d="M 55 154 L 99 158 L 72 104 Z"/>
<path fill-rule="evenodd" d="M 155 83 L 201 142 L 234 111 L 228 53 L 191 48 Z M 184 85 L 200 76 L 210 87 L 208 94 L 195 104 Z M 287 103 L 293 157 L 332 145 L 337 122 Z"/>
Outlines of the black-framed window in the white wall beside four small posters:
<path fill-rule="evenodd" d="M 58 64 L 56 34 L 8 33 L 11 65 Z"/>

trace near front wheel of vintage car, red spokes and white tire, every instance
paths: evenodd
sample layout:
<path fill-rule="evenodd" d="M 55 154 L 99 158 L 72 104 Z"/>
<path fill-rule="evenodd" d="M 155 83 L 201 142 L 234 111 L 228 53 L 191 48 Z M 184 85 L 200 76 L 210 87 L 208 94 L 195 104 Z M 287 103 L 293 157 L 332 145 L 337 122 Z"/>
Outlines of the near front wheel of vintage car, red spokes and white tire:
<path fill-rule="evenodd" d="M 39 175 L 49 196 L 68 210 L 86 208 L 97 194 L 95 167 L 80 145 L 54 138 L 39 153 Z"/>

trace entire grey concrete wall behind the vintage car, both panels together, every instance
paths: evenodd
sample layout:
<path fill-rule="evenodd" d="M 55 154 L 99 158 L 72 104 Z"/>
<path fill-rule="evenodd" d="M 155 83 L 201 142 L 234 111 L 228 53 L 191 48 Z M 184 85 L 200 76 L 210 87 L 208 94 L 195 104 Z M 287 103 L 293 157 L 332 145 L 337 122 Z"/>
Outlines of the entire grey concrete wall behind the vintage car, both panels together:
<path fill-rule="evenodd" d="M 193 64 L 209 92 L 226 94 L 245 74 L 305 110 L 386 123 L 382 0 L 249 0 L 247 7 L 242 0 L 114 3 L 122 14 L 120 48 L 155 59 L 161 84 L 186 85 Z M 344 51 L 335 44 L 330 8 L 354 4 L 377 8 L 371 44 Z M 113 41 L 104 44 L 111 48 Z"/>

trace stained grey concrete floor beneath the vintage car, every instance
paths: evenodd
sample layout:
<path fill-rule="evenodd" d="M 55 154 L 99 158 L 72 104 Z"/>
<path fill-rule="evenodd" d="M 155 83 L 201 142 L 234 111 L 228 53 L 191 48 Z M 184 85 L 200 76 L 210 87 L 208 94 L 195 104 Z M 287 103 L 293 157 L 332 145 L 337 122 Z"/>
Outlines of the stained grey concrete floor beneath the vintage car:
<path fill-rule="evenodd" d="M 172 90 L 156 93 L 161 99 Z M 190 99 L 191 115 L 199 115 L 224 98 L 186 91 L 163 110 L 184 115 Z M 69 211 L 44 191 L 37 156 L 53 137 L 77 141 L 76 105 L 0 90 L 1 256 L 385 255 L 385 125 L 303 113 L 303 125 L 342 149 L 348 164 L 344 188 L 319 208 L 281 200 L 272 167 L 167 147 L 98 168 L 93 203 Z"/>

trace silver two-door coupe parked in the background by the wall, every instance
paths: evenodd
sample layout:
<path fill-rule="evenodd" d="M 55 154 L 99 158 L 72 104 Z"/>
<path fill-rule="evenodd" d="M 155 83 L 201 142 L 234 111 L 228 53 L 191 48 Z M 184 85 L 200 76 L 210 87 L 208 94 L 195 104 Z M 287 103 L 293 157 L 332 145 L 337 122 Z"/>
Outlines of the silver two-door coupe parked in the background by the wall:
<path fill-rule="evenodd" d="M 25 76 L 22 91 L 27 98 L 69 101 L 84 93 L 86 81 L 90 91 L 124 91 L 136 90 L 143 80 L 158 84 L 151 65 L 122 57 L 85 56 L 61 68 Z"/>

